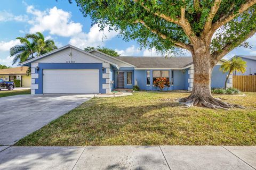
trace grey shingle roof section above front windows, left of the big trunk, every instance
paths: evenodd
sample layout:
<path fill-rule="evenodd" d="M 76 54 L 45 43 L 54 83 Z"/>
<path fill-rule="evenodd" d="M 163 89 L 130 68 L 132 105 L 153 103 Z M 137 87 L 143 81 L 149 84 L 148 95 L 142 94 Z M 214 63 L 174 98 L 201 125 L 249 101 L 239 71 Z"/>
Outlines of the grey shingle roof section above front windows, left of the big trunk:
<path fill-rule="evenodd" d="M 192 57 L 116 57 L 139 68 L 185 69 L 193 64 Z"/>

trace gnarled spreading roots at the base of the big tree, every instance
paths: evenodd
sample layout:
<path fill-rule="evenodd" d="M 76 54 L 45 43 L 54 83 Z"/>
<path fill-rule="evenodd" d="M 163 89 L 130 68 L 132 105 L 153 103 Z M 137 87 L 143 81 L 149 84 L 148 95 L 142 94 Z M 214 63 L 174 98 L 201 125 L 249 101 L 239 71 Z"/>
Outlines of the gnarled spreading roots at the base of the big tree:
<path fill-rule="evenodd" d="M 186 98 L 179 99 L 179 102 L 187 107 L 199 105 L 199 106 L 204 106 L 212 109 L 226 109 L 226 110 L 229 110 L 230 108 L 245 109 L 245 107 L 241 105 L 229 104 L 219 99 L 215 99 L 213 97 L 199 97 L 199 96 L 190 95 Z"/>

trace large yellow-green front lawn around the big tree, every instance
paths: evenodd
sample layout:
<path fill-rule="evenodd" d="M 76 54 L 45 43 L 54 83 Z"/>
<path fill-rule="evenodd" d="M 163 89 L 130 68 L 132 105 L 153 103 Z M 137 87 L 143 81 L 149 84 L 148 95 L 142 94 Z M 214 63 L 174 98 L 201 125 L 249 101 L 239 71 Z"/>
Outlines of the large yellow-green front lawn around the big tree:
<path fill-rule="evenodd" d="M 247 109 L 185 108 L 187 93 L 136 92 L 93 98 L 17 146 L 256 145 L 256 93 L 215 95 Z"/>

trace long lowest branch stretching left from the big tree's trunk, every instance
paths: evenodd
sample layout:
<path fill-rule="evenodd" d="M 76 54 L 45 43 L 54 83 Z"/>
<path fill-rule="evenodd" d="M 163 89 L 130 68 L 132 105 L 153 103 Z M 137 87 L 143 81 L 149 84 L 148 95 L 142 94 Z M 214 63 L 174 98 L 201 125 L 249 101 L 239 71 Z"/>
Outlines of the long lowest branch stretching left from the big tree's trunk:
<path fill-rule="evenodd" d="M 163 39 L 169 39 L 172 41 L 172 43 L 179 48 L 185 48 L 187 50 L 189 50 L 190 52 L 193 50 L 192 46 L 185 44 L 185 43 L 181 43 L 181 42 L 177 42 L 171 38 L 168 38 L 166 35 L 164 35 L 163 33 L 159 32 L 158 30 L 155 29 L 151 29 L 143 20 L 137 20 L 134 23 L 141 23 L 144 27 L 146 27 L 148 30 L 150 30 L 151 32 L 155 33 L 156 35 L 159 35 L 161 38 Z"/>

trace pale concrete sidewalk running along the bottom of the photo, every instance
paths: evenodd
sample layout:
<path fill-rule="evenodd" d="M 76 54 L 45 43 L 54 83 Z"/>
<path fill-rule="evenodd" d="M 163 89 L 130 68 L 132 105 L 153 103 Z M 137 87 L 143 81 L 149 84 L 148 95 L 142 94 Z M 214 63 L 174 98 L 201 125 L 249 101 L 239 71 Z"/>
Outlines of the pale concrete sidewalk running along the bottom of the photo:
<path fill-rule="evenodd" d="M 256 147 L 0 147 L 0 169 L 255 169 Z"/>

